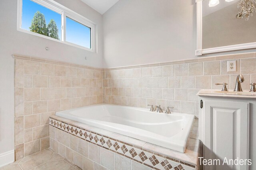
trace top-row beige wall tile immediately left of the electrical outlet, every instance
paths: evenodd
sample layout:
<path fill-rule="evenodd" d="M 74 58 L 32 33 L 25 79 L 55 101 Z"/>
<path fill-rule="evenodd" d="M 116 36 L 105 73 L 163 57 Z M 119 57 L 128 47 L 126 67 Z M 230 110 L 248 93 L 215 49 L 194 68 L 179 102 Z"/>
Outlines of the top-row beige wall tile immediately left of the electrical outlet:
<path fill-rule="evenodd" d="M 220 74 L 220 61 L 204 62 L 204 75 Z"/>

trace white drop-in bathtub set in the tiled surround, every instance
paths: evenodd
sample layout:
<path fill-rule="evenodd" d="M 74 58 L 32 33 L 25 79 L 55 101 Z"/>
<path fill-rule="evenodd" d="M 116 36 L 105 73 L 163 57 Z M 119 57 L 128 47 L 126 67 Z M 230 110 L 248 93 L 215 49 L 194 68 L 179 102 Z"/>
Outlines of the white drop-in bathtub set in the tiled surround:
<path fill-rule="evenodd" d="M 156 113 L 149 109 L 117 105 L 94 105 L 56 112 L 57 116 L 78 121 L 185 152 L 194 116 Z"/>

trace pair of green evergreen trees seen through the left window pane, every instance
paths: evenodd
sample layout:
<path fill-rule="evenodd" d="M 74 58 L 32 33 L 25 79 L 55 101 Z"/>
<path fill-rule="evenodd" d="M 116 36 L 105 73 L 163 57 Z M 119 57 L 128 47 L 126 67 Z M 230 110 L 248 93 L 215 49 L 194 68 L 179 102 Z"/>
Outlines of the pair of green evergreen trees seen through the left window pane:
<path fill-rule="evenodd" d="M 60 40 L 58 36 L 58 27 L 56 25 L 56 22 L 53 19 L 51 19 L 49 24 L 46 26 L 44 14 L 42 14 L 40 11 L 37 11 L 34 14 L 29 29 L 32 32 L 36 32 L 38 34 L 42 34 L 44 36 Z"/>

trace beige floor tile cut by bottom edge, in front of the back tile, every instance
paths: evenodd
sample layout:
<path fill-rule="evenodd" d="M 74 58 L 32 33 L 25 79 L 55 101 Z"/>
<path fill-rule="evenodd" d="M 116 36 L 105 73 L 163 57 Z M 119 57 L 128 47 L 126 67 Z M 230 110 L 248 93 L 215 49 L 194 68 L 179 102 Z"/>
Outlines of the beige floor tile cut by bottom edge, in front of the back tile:
<path fill-rule="evenodd" d="M 70 168 L 72 166 L 64 160 L 54 160 L 41 164 L 32 170 L 69 170 Z"/>

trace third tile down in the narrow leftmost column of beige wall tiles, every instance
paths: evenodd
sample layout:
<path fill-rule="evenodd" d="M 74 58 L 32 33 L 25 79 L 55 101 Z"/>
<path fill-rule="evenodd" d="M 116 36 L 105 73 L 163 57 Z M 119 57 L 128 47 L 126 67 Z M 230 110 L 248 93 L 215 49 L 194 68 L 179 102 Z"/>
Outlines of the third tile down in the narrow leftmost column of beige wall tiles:
<path fill-rule="evenodd" d="M 24 142 L 23 116 L 14 117 L 14 145 Z"/>

